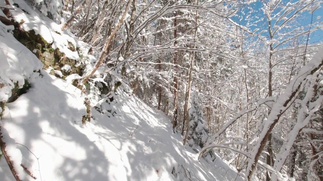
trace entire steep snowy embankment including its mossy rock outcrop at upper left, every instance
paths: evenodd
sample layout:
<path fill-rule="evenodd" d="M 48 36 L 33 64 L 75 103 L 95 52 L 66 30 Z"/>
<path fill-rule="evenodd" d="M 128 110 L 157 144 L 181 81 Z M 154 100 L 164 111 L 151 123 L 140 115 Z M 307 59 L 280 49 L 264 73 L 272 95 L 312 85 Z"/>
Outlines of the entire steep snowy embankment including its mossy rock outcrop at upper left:
<path fill-rule="evenodd" d="M 27 6 L 24 11 L 13 9 L 14 19 L 29 24 L 22 25 L 24 31 L 34 30 L 32 35 L 40 33 L 46 41 L 27 47 L 14 37 L 13 25 L 0 23 L 1 136 L 22 180 L 34 179 L 20 163 L 39 181 L 240 180 L 221 158 L 210 164 L 198 161 L 194 151 L 182 145 L 182 136 L 172 133 L 169 117 L 121 89 L 111 104 L 102 103 L 100 112 L 93 108 L 91 122 L 82 125 L 85 95 L 73 81 L 80 70 L 60 62 L 61 57 L 55 64 L 52 53 L 59 48 L 60 56 L 81 62 L 84 70 L 94 62 L 81 53 L 88 46 Z M 62 37 L 68 41 L 58 41 Z M 52 49 L 37 56 L 34 49 L 46 44 Z M 46 54 L 54 58 L 45 60 Z M 71 68 L 61 71 L 66 65 Z M 15 180 L 4 157 L 0 178 Z"/>

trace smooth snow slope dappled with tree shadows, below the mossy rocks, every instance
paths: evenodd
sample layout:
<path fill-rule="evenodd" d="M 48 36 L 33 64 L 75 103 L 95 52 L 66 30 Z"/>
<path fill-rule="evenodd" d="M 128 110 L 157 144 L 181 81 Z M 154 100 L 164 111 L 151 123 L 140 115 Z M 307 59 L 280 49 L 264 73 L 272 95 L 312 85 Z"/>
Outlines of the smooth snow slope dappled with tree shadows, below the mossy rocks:
<path fill-rule="evenodd" d="M 37 180 L 177 180 L 171 172 L 178 164 L 199 180 L 236 177 L 220 158 L 215 165 L 197 161 L 193 151 L 182 146 L 182 137 L 172 133 L 170 119 L 162 112 L 123 91 L 116 100 L 118 116 L 109 118 L 93 109 L 94 120 L 82 126 L 85 107 L 78 89 L 46 75 L 7 105 L 2 122 L 10 137 L 38 158 L 39 167 L 33 154 L 18 147 Z M 131 137 L 138 123 L 139 131 Z M 0 178 L 14 180 L 3 158 Z"/>

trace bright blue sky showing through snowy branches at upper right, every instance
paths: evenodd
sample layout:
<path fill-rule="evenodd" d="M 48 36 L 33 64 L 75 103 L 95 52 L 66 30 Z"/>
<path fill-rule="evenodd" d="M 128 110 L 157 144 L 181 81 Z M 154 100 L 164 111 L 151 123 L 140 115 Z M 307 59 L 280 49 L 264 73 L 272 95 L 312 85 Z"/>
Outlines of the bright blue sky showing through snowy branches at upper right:
<path fill-rule="evenodd" d="M 282 4 L 287 4 L 287 2 L 289 2 L 289 0 L 283 0 Z M 292 2 L 297 2 L 296 0 L 292 0 Z M 261 17 L 264 17 L 264 13 L 263 10 L 261 10 L 261 8 L 263 7 L 263 2 L 262 1 L 256 1 L 254 3 L 251 3 L 250 5 L 245 5 L 244 7 L 242 7 L 235 16 L 232 16 L 232 20 L 234 20 L 235 22 L 248 27 L 250 30 L 254 30 L 255 28 L 260 28 L 261 30 L 266 28 L 267 22 L 263 21 L 263 20 L 259 20 Z M 278 12 L 279 10 L 277 10 Z M 276 12 L 274 12 L 276 13 Z M 323 8 L 319 7 L 318 9 L 316 9 L 314 11 L 313 14 L 307 12 L 302 13 L 302 18 L 298 19 L 297 22 L 295 22 L 295 25 L 291 26 L 289 29 L 285 28 L 282 29 L 282 31 L 288 32 L 289 30 L 292 30 L 296 27 L 301 27 L 304 26 L 306 24 L 310 24 L 311 19 L 313 16 L 313 22 L 315 21 L 319 21 L 322 22 L 323 21 Z M 317 19 L 318 17 L 321 17 L 320 19 Z M 239 17 L 239 18 L 238 18 Z M 288 16 L 287 16 L 288 17 Z M 258 22 L 256 22 L 257 20 L 259 20 Z M 256 23 L 254 23 L 256 22 Z M 254 24 L 252 24 L 254 23 Z M 313 28 L 313 27 L 312 27 Z M 308 29 L 308 28 L 307 28 Z M 262 33 L 262 35 L 267 36 L 268 33 Z M 307 36 L 306 36 L 307 38 Z M 316 30 L 314 33 L 310 33 L 309 36 L 309 43 L 323 43 L 323 30 L 318 29 Z"/>

